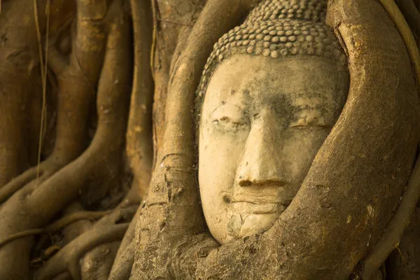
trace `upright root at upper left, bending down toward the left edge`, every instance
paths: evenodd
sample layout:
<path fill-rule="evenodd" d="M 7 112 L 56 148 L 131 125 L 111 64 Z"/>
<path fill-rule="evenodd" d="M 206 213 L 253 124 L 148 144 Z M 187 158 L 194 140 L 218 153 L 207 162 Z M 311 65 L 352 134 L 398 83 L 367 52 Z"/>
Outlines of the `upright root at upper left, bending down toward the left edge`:
<path fill-rule="evenodd" d="M 78 6 L 81 2 L 78 1 Z M 92 5 L 91 8 L 97 8 Z M 59 94 L 57 104 L 57 132 L 55 147 L 52 155 L 41 163 L 39 167 L 32 167 L 27 172 L 13 179 L 6 186 L 0 181 L 0 203 L 6 201 L 13 193 L 26 186 L 30 179 L 34 179 L 34 172 L 40 170 L 43 173 L 41 179 L 37 179 L 36 185 L 49 178 L 72 160 L 76 159 L 85 149 L 87 136 L 87 119 L 90 112 L 90 104 L 94 98 L 95 90 L 92 85 L 97 83 L 100 69 L 102 67 L 102 57 L 104 57 L 104 45 L 106 36 L 98 36 L 104 33 L 104 23 L 90 27 L 83 25 L 86 15 L 80 15 L 78 11 L 78 33 L 75 45 L 78 48 L 71 53 L 70 63 L 63 62 L 64 57 L 52 55 L 50 66 L 53 66 L 59 81 Z M 80 42 L 81 41 L 81 42 Z M 94 51 L 87 49 L 84 44 L 94 45 Z M 50 52 L 55 53 L 55 49 L 50 45 Z M 84 68 L 78 63 L 83 59 Z M 57 69 L 57 61 L 61 61 L 62 68 Z M 54 67 L 55 66 L 55 67 Z M 16 94 L 16 93 L 15 93 Z M 12 114 L 12 116 L 17 115 Z M 12 123 L 12 122 L 10 122 Z M 15 123 L 13 123 L 15 125 Z M 10 135 L 1 139 L 12 139 Z M 25 138 L 25 137 L 20 137 Z M 0 139 L 0 141 L 1 141 Z M 20 153 L 24 151 L 21 149 Z M 6 159 L 6 162 L 10 160 Z M 4 189 L 4 190 L 3 190 Z"/>

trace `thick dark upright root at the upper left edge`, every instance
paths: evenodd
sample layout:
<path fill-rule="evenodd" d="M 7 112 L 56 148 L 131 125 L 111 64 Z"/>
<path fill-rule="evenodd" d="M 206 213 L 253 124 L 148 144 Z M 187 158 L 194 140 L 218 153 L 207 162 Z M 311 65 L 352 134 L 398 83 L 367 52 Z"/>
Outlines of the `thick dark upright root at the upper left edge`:
<path fill-rule="evenodd" d="M 44 8 L 45 1 L 38 5 Z M 6 1 L 1 8 L 0 188 L 29 165 L 27 109 L 31 95 L 40 90 L 33 5 L 29 0 Z M 39 28 L 45 29 L 45 20 Z"/>

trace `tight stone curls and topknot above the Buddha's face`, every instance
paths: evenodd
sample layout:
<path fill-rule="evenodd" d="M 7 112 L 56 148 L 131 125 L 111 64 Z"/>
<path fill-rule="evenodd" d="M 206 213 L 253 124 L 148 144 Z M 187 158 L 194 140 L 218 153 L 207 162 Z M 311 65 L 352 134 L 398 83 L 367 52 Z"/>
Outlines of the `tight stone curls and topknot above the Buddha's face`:
<path fill-rule="evenodd" d="M 244 23 L 224 34 L 207 59 L 197 89 L 196 116 L 211 75 L 224 59 L 235 54 L 273 59 L 297 55 L 325 57 L 346 67 L 347 58 L 331 27 L 325 24 L 327 0 L 266 0 Z"/>

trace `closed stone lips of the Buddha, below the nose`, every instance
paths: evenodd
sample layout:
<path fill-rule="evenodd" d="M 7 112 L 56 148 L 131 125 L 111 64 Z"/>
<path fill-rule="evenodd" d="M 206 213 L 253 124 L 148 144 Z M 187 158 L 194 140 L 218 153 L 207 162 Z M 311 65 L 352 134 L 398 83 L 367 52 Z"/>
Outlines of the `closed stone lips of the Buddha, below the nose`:
<path fill-rule="evenodd" d="M 244 195 L 232 195 L 232 193 L 224 193 L 223 200 L 231 204 L 239 213 L 249 214 L 281 214 L 290 201 L 279 201 L 276 197 L 247 197 Z"/>

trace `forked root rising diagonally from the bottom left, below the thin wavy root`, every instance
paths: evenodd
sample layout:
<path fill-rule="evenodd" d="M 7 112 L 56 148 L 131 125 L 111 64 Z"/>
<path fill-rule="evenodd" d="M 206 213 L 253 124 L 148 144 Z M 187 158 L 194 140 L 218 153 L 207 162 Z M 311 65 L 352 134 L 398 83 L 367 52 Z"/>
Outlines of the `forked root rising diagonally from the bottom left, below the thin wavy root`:
<path fill-rule="evenodd" d="M 118 221 L 122 218 L 125 221 L 130 220 L 136 209 L 137 206 L 117 209 L 112 214 L 102 218 L 91 230 L 71 241 L 50 258 L 38 270 L 36 279 L 52 279 L 52 277 L 65 271 L 70 272 L 73 279 L 80 279 L 80 258 L 96 246 L 123 239 L 129 223 L 118 224 Z"/>

